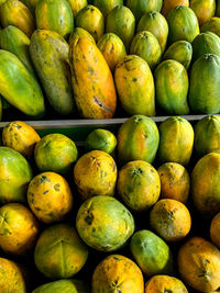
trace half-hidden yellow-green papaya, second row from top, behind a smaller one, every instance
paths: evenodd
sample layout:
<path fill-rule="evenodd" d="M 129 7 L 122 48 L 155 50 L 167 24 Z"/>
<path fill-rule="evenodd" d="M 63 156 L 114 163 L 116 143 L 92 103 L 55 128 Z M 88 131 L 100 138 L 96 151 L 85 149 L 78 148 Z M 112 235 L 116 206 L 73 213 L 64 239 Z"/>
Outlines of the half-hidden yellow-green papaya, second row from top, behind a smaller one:
<path fill-rule="evenodd" d="M 157 11 L 150 11 L 143 14 L 138 23 L 136 32 L 142 31 L 148 31 L 157 38 L 163 54 L 168 37 L 168 24 L 166 19 Z"/>

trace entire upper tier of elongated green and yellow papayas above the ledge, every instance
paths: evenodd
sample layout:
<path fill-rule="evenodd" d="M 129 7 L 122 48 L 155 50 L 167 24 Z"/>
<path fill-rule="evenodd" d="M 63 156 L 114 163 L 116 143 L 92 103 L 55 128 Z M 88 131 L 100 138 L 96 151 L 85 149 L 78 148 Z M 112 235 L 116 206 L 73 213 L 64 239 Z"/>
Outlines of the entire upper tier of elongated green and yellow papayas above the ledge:
<path fill-rule="evenodd" d="M 32 119 L 219 113 L 219 16 L 215 0 L 3 0 L 0 109 Z"/>

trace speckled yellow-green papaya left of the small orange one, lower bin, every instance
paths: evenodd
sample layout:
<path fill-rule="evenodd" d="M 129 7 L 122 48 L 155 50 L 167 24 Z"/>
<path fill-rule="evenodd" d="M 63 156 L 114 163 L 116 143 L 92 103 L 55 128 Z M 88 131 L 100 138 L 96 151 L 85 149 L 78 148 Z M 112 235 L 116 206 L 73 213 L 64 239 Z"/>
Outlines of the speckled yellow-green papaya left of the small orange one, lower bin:
<path fill-rule="evenodd" d="M 161 182 L 154 167 L 142 160 L 125 164 L 119 171 L 118 193 L 132 211 L 152 206 L 160 196 Z"/>

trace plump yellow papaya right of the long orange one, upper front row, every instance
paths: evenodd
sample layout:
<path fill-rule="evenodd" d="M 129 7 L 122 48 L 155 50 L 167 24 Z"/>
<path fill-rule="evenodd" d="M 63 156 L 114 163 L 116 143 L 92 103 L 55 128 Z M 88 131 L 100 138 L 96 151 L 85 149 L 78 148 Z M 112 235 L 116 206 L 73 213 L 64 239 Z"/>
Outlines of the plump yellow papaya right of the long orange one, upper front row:
<path fill-rule="evenodd" d="M 128 114 L 155 115 L 154 79 L 143 58 L 127 55 L 117 65 L 114 81 L 119 100 Z"/>

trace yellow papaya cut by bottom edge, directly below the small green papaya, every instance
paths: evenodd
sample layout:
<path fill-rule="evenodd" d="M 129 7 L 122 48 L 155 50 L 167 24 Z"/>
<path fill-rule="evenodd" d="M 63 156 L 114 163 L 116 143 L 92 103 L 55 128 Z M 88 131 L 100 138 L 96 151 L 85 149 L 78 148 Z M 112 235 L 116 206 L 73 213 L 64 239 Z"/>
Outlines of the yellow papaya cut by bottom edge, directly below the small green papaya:
<path fill-rule="evenodd" d="M 188 293 L 184 283 L 174 277 L 157 274 L 152 277 L 145 284 L 144 293 L 175 292 Z"/>

